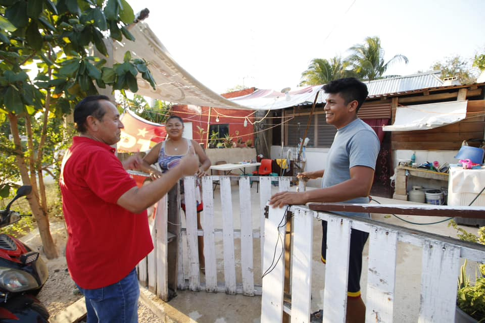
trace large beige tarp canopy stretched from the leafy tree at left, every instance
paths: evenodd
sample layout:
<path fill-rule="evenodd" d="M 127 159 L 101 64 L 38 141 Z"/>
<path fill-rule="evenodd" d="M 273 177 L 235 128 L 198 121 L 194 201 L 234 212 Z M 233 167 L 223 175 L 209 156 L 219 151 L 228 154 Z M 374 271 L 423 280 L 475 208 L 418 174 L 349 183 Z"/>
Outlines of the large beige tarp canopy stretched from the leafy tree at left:
<path fill-rule="evenodd" d="M 248 109 L 215 93 L 185 71 L 175 62 L 148 24 L 144 22 L 131 24 L 129 31 L 135 37 L 135 41 L 127 39 L 123 42 L 115 41 L 114 61 L 123 63 L 125 52 L 130 50 L 133 58 L 144 59 L 150 64 L 149 69 L 157 84 L 154 90 L 139 75 L 136 94 L 179 104 Z"/>

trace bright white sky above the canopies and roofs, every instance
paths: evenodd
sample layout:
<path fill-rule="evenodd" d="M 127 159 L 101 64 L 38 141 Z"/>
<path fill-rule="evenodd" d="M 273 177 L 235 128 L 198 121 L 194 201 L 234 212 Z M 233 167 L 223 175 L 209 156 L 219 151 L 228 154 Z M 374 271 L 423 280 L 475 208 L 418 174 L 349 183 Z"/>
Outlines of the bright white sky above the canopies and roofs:
<path fill-rule="evenodd" d="M 385 75 L 485 52 L 485 0 L 127 0 L 175 61 L 217 93 L 236 85 L 294 90 L 315 58 L 349 55 L 378 36 Z"/>

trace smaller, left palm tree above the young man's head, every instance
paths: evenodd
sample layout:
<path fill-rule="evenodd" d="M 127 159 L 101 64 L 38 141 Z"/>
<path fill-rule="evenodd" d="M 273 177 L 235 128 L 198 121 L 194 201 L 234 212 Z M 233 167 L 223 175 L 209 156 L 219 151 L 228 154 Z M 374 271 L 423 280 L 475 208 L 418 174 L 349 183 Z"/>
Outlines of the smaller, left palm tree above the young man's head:
<path fill-rule="evenodd" d="M 348 63 L 338 56 L 330 60 L 313 59 L 308 70 L 302 73 L 300 85 L 320 85 L 330 81 L 351 76 L 351 71 L 346 70 Z"/>

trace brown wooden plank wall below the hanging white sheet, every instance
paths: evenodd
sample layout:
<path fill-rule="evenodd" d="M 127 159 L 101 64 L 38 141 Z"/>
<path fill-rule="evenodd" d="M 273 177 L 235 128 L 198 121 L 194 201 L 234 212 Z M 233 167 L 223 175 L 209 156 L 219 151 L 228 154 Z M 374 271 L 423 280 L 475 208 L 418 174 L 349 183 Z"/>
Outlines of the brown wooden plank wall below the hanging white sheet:
<path fill-rule="evenodd" d="M 395 114 L 393 110 L 393 122 Z M 484 131 L 485 100 L 469 100 L 465 120 L 429 130 L 395 131 L 391 137 L 392 149 L 458 150 L 463 140 L 483 139 Z"/>

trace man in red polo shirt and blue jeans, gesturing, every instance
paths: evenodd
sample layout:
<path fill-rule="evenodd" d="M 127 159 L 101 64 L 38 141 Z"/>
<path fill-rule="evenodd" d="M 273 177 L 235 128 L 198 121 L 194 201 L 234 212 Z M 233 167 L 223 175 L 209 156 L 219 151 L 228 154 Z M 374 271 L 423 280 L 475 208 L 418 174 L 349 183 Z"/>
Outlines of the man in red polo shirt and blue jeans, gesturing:
<path fill-rule="evenodd" d="M 153 249 L 146 208 L 182 176 L 199 167 L 195 153 L 151 185 L 138 188 L 112 147 L 123 124 L 107 96 L 88 96 L 74 110 L 74 137 L 61 168 L 60 186 L 68 230 L 66 259 L 72 279 L 85 296 L 87 321 L 138 321 L 139 286 L 135 266 Z M 193 148 L 192 148 L 193 150 Z"/>

